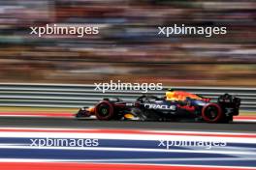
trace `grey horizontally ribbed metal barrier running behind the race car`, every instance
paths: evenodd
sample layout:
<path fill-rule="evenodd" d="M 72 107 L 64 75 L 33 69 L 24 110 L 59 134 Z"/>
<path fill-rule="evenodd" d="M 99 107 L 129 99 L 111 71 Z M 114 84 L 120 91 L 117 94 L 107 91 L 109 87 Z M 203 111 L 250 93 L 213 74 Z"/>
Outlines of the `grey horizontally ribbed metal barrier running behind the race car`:
<path fill-rule="evenodd" d="M 0 83 L 1 106 L 35 106 L 35 107 L 81 107 L 91 106 L 103 98 L 121 98 L 133 101 L 143 91 L 102 91 L 95 90 L 91 84 L 23 84 Z M 147 94 L 163 96 L 170 87 L 161 91 L 148 91 Z M 256 111 L 256 88 L 227 87 L 172 87 L 211 99 L 229 93 L 241 98 L 241 110 Z"/>

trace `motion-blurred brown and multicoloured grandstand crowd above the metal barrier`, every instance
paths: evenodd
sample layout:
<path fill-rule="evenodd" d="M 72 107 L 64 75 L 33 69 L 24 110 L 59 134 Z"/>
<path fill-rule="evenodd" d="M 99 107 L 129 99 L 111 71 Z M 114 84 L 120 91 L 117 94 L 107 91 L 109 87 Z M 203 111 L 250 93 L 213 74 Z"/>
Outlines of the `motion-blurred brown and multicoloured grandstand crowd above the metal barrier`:
<path fill-rule="evenodd" d="M 256 85 L 254 0 L 0 0 L 1 82 Z M 83 38 L 30 26 L 96 24 Z M 226 26 L 226 35 L 157 35 L 158 26 Z"/>

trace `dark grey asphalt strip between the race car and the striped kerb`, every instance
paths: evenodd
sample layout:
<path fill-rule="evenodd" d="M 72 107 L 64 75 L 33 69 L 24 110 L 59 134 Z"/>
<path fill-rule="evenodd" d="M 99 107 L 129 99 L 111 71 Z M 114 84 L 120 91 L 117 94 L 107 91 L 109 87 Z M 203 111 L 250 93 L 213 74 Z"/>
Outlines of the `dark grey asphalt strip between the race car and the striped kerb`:
<path fill-rule="evenodd" d="M 131 122 L 131 121 L 97 121 L 62 118 L 0 118 L 2 128 L 133 128 L 133 129 L 163 129 L 190 131 L 233 131 L 255 132 L 256 123 L 183 123 L 183 122 Z"/>

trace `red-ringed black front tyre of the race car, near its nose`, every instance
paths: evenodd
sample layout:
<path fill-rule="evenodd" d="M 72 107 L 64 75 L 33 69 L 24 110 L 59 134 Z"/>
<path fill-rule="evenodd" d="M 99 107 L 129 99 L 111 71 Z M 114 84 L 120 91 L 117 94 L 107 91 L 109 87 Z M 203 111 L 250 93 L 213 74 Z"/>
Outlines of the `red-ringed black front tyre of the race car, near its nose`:
<path fill-rule="evenodd" d="M 111 120 L 114 116 L 112 103 L 107 100 L 103 100 L 98 103 L 95 106 L 95 116 L 98 120 Z"/>

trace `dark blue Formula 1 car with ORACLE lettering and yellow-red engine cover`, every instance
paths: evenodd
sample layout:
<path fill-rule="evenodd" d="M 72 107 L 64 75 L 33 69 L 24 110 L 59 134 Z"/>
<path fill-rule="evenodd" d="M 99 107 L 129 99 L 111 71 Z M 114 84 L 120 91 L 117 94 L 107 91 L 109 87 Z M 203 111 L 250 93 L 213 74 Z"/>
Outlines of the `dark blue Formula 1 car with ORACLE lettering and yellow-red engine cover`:
<path fill-rule="evenodd" d="M 168 90 L 164 97 L 143 95 L 133 102 L 119 98 L 102 99 L 93 107 L 82 107 L 77 118 L 96 117 L 98 120 L 195 121 L 229 123 L 239 115 L 240 98 L 229 94 L 216 102 L 200 95 Z"/>

